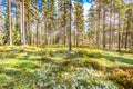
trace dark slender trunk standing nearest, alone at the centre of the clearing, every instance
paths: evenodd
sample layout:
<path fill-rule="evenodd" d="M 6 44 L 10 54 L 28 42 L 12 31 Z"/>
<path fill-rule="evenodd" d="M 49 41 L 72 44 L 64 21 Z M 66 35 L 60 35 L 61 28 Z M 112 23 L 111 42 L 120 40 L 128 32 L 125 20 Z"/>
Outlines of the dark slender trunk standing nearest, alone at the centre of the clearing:
<path fill-rule="evenodd" d="M 72 44 L 71 44 L 71 21 L 72 21 L 72 18 L 71 18 L 71 14 L 72 13 L 72 0 L 70 0 L 70 30 L 69 30 L 69 51 L 72 50 Z"/>

